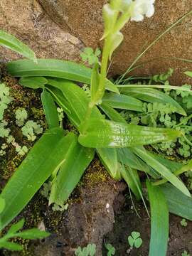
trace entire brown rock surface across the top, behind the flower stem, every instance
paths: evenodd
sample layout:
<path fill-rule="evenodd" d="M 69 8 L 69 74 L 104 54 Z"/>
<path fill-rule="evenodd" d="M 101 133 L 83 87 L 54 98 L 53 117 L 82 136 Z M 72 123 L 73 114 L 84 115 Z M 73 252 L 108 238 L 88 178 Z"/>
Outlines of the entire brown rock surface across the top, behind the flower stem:
<path fill-rule="evenodd" d="M 106 2 L 107 0 L 1 0 L 0 28 L 13 33 L 31 46 L 40 58 L 79 60 L 83 46 L 100 46 L 102 5 Z M 140 23 L 129 23 L 124 28 L 124 42 L 113 59 L 112 75 L 123 73 L 146 43 L 154 41 L 159 33 L 191 10 L 192 0 L 156 0 L 155 7 L 156 13 L 152 18 L 145 18 Z M 140 62 L 159 57 L 191 58 L 191 31 L 191 16 L 188 16 L 177 28 L 161 38 Z M 18 58 L 18 55 L 4 48 L 0 49 L 0 55 L 3 60 Z M 182 73 L 191 70 L 192 64 L 181 60 L 153 60 L 134 70 L 134 74 L 157 74 L 168 68 L 175 69 L 172 82 L 176 85 L 190 81 Z"/>

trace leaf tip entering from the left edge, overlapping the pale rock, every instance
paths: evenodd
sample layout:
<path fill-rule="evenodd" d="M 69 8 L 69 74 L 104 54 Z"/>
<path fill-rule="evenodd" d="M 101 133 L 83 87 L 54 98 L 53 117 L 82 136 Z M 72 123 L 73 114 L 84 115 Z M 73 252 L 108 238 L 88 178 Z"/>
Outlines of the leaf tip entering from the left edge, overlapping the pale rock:
<path fill-rule="evenodd" d="M 0 30 L 0 46 L 14 50 L 16 53 L 23 55 L 24 57 L 37 62 L 36 55 L 28 46 L 19 41 L 15 36 Z"/>

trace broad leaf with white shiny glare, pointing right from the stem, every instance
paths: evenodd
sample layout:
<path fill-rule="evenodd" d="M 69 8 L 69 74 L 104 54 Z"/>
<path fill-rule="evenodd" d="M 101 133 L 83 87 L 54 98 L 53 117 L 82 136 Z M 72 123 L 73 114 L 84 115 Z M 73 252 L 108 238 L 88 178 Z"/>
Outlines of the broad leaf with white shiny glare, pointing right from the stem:
<path fill-rule="evenodd" d="M 180 136 L 172 129 L 142 127 L 105 119 L 90 119 L 85 134 L 80 134 L 82 146 L 94 148 L 122 148 L 137 145 L 168 142 Z"/>

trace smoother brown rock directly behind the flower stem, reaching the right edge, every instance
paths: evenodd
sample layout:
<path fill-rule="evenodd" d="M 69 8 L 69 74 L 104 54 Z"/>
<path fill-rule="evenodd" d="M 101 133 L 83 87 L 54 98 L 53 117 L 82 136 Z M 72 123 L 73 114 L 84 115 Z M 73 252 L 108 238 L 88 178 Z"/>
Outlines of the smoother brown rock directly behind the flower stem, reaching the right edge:
<path fill-rule="evenodd" d="M 107 0 L 38 0 L 50 18 L 58 23 L 60 28 L 68 28 L 70 33 L 80 38 L 85 46 L 96 48 L 100 46 L 102 36 L 102 6 Z M 128 23 L 124 28 L 124 42 L 117 50 L 111 68 L 112 75 L 122 74 L 131 65 L 139 53 L 165 31 L 172 23 L 181 18 L 192 8 L 192 0 L 156 0 L 156 13 L 152 18 L 145 18 L 144 22 Z M 182 25 L 191 25 L 191 16 L 188 16 Z M 179 24 L 181 25 L 181 23 Z M 165 58 L 191 58 L 191 26 L 178 26 L 153 46 L 144 55 L 139 63 L 151 59 Z M 169 68 L 174 68 L 172 79 L 176 85 L 190 81 L 183 71 L 192 69 L 191 63 L 181 60 L 160 59 L 146 63 L 144 67 L 135 70 L 134 75 L 151 75 L 163 73 Z"/>

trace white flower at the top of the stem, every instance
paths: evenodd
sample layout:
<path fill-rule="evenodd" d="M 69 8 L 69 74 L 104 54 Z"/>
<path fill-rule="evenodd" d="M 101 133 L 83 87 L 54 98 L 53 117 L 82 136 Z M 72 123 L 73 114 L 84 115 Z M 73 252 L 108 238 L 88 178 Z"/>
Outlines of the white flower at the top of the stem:
<path fill-rule="evenodd" d="M 151 17 L 154 15 L 155 0 L 135 0 L 132 6 L 131 21 L 142 21 L 144 15 Z"/>

